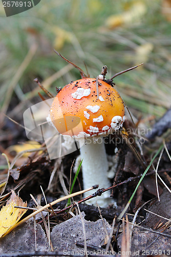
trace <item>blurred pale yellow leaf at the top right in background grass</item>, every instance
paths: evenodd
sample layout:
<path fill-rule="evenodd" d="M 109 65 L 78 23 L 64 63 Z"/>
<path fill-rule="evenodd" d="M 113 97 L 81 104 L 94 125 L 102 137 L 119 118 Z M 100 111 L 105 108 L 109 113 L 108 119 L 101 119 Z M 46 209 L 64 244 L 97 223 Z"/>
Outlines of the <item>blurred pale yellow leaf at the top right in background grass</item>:
<path fill-rule="evenodd" d="M 106 25 L 109 29 L 113 29 L 121 25 L 135 23 L 146 13 L 146 10 L 144 3 L 135 2 L 128 11 L 109 16 L 106 20 Z"/>

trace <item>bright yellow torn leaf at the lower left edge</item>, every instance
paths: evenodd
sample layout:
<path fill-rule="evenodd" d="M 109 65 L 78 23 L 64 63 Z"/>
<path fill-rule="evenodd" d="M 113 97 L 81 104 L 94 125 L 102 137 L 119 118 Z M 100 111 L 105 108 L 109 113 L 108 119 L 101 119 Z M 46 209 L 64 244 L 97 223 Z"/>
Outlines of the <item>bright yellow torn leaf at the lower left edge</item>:
<path fill-rule="evenodd" d="M 3 206 L 0 211 L 0 237 L 8 234 L 9 229 L 11 229 L 27 211 L 25 209 L 14 208 L 14 206 L 27 207 L 27 203 L 24 203 L 23 200 L 12 191 L 6 206 Z"/>

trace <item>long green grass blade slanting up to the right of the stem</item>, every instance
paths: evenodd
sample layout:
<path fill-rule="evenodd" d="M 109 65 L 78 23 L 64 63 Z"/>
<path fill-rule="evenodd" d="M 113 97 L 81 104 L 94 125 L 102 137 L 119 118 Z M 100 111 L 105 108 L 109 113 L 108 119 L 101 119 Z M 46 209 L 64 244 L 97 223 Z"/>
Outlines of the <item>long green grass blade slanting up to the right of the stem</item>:
<path fill-rule="evenodd" d="M 128 203 L 126 204 L 125 208 L 123 209 L 123 211 L 121 212 L 121 214 L 119 215 L 118 218 L 122 218 L 123 215 L 125 214 L 126 210 L 128 209 L 128 207 L 129 207 L 129 205 L 130 205 L 130 203 L 131 203 L 131 200 L 134 198 L 134 196 L 135 196 L 135 194 L 136 194 L 136 192 L 137 192 L 137 189 L 138 189 L 138 187 L 140 186 L 140 183 L 142 182 L 142 180 L 143 180 L 143 178 L 145 177 L 147 171 L 149 170 L 151 164 L 154 162 L 155 158 L 158 156 L 158 154 L 160 153 L 160 151 L 162 150 L 162 148 L 163 148 L 163 144 L 160 146 L 160 148 L 158 149 L 157 153 L 155 154 L 155 156 L 153 157 L 153 159 L 150 161 L 148 167 L 146 168 L 146 170 L 144 171 L 142 177 L 140 178 L 140 181 L 138 182 L 138 185 L 137 185 L 136 189 L 134 190 L 134 193 L 132 193 L 130 199 L 128 200 Z"/>

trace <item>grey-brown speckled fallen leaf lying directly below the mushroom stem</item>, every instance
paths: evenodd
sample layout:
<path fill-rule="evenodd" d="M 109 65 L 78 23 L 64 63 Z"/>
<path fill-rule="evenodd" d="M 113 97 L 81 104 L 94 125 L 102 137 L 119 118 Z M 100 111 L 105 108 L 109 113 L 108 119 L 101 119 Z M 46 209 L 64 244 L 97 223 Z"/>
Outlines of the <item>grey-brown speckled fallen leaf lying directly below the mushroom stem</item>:
<path fill-rule="evenodd" d="M 106 243 L 106 232 L 104 225 L 108 235 L 110 234 L 111 226 L 105 221 L 105 219 L 104 224 L 102 219 L 98 219 L 96 222 L 86 221 L 84 218 L 85 213 L 82 212 L 81 214 L 84 222 L 87 245 L 102 247 Z M 63 223 L 60 223 L 59 225 L 56 225 L 52 229 L 50 238 L 54 249 L 61 251 L 79 251 L 83 249 L 82 247 L 75 245 L 75 242 L 84 245 L 83 225 L 80 215 L 77 215 Z"/>

